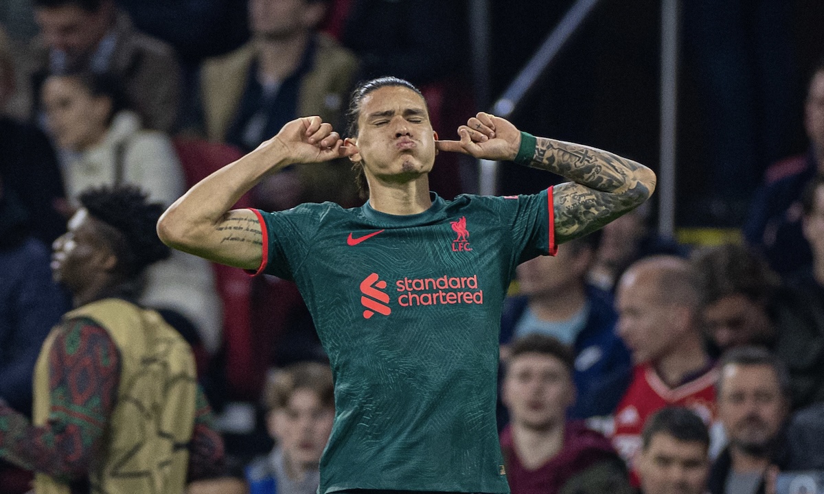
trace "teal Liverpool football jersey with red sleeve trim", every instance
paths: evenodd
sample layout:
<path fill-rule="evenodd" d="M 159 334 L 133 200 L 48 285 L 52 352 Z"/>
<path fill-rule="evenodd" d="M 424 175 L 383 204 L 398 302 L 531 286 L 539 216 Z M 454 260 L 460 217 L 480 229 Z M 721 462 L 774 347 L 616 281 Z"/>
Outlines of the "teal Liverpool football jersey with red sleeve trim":
<path fill-rule="evenodd" d="M 297 283 L 335 376 L 319 492 L 508 492 L 495 401 L 517 264 L 554 254 L 551 189 L 433 194 L 427 211 L 259 212 L 264 273 Z"/>

